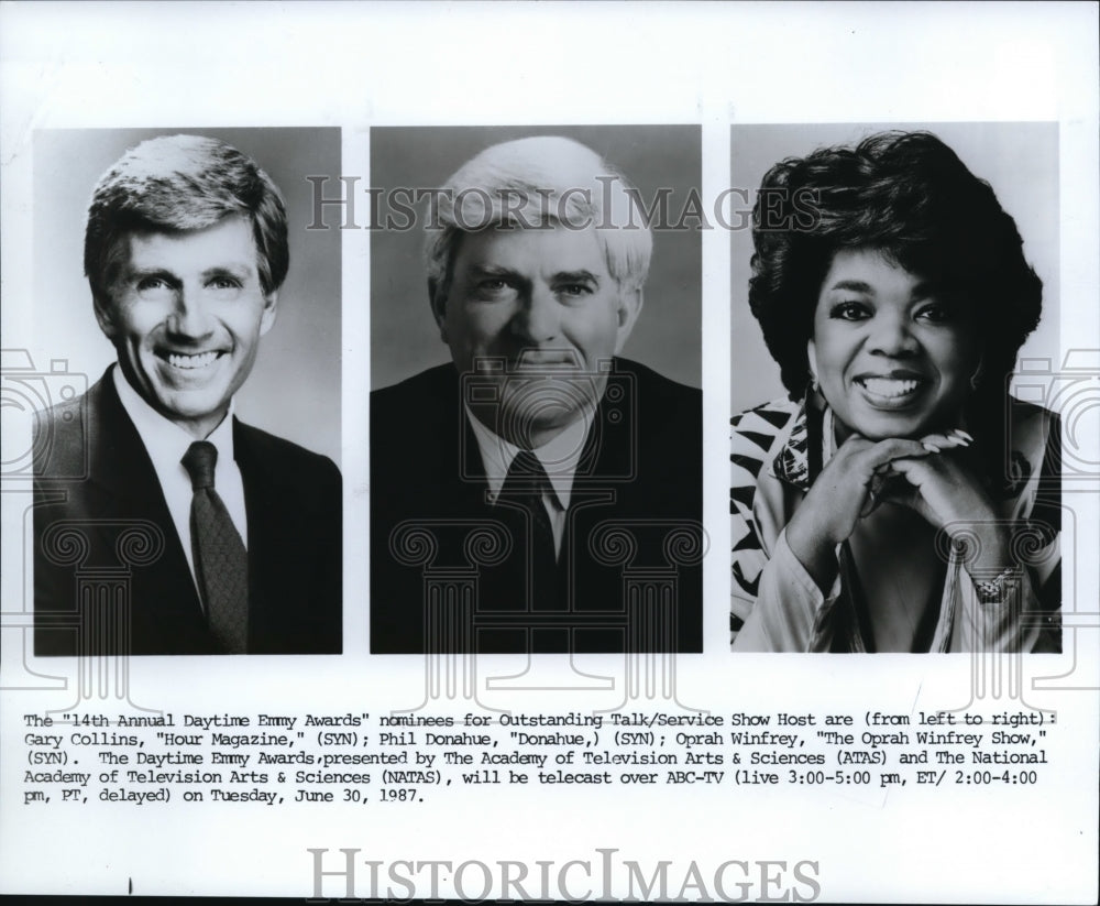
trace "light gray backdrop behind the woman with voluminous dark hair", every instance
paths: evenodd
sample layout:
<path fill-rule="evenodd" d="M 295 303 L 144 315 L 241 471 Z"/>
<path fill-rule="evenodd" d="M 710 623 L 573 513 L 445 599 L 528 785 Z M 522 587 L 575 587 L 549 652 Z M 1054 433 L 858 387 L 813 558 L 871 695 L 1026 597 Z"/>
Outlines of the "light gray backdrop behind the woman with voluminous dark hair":
<path fill-rule="evenodd" d="M 749 203 L 769 167 L 836 144 L 851 144 L 888 129 L 924 130 L 955 150 L 970 172 L 993 187 L 1016 221 L 1024 256 L 1043 281 L 1043 318 L 1021 358 L 1058 361 L 1058 124 L 1054 122 L 814 123 L 732 127 L 730 185 Z M 744 205 L 743 205 L 744 206 Z M 752 234 L 730 233 L 730 413 L 784 396 L 779 367 L 748 304 Z"/>

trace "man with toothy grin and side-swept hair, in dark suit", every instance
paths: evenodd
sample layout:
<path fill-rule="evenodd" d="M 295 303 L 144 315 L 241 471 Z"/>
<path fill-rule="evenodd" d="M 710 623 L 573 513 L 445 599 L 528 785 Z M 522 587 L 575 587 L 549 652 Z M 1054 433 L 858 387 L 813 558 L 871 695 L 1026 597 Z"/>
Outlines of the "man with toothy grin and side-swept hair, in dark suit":
<path fill-rule="evenodd" d="M 233 415 L 288 264 L 278 188 L 224 142 L 153 139 L 99 181 L 118 363 L 36 426 L 36 654 L 340 652 L 340 473 Z"/>

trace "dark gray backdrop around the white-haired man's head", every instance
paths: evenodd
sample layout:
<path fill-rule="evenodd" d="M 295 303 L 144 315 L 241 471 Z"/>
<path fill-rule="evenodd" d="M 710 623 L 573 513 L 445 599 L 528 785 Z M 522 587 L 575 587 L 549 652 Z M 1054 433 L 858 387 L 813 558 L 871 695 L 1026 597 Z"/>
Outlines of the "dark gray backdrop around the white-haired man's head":
<path fill-rule="evenodd" d="M 375 127 L 371 129 L 371 185 L 437 188 L 463 163 L 498 142 L 528 135 L 564 135 L 622 170 L 647 206 L 657 189 L 672 188 L 674 222 L 691 189 L 700 189 L 697 125 Z M 334 189 L 329 188 L 330 193 Z M 365 198 L 361 196 L 361 200 Z M 418 207 L 424 216 L 427 201 Z M 365 221 L 365 216 L 356 218 Z M 329 219 L 336 222 L 334 212 Z M 697 220 L 689 220 L 694 226 Z M 424 232 L 376 230 L 371 237 L 371 386 L 388 386 L 449 361 L 428 305 Z M 645 305 L 623 354 L 672 380 L 701 386 L 702 253 L 695 229 L 657 230 Z"/>

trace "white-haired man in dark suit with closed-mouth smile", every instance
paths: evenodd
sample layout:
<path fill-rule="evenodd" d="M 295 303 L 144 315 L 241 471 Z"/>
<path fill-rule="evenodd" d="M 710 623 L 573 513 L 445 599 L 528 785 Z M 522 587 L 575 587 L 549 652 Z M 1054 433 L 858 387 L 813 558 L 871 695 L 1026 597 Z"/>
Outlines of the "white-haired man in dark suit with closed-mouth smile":
<path fill-rule="evenodd" d="M 451 362 L 372 394 L 373 652 L 701 650 L 702 396 L 619 357 L 652 250 L 629 192 L 541 137 L 436 193 Z"/>

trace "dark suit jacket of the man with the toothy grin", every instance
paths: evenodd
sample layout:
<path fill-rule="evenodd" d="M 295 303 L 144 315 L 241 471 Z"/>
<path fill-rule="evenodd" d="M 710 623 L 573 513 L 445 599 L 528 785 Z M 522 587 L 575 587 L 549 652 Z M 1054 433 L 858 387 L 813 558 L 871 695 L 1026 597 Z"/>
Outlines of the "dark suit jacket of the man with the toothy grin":
<path fill-rule="evenodd" d="M 45 413 L 35 438 L 35 653 L 219 653 L 184 555 L 189 541 L 110 373 Z M 250 653 L 338 654 L 339 470 L 237 419 L 233 448 L 249 520 Z"/>

